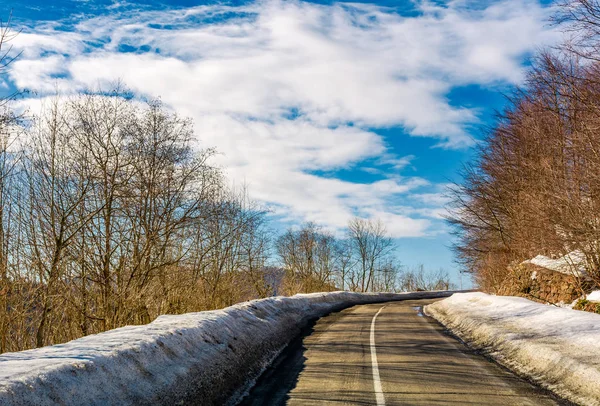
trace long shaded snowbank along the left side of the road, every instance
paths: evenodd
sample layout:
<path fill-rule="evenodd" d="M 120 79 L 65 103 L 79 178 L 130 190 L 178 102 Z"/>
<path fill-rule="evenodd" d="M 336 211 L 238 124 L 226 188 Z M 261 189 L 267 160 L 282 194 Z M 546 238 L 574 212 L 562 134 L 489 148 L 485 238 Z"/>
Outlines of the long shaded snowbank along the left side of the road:
<path fill-rule="evenodd" d="M 233 404 L 310 319 L 354 304 L 448 295 L 274 297 L 6 353 L 0 404 Z"/>

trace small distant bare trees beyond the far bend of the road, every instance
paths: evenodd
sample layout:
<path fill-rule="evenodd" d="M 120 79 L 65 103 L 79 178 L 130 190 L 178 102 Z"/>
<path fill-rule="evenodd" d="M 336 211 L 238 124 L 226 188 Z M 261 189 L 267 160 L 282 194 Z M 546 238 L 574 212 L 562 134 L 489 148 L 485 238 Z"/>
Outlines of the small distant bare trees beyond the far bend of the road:
<path fill-rule="evenodd" d="M 406 269 L 397 261 L 394 242 L 377 220 L 353 218 L 346 234 L 335 237 L 313 223 L 292 228 L 275 243 L 286 272 L 285 293 L 351 290 L 400 292 L 454 288 L 444 270 L 420 265 Z"/>

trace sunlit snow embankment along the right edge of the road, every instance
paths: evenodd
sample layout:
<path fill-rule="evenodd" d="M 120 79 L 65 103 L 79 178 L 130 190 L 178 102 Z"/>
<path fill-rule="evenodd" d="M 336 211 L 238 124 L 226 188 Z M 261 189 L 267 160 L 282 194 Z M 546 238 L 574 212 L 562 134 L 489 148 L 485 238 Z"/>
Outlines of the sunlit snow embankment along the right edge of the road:
<path fill-rule="evenodd" d="M 600 315 L 484 293 L 454 294 L 425 313 L 558 395 L 600 405 Z"/>

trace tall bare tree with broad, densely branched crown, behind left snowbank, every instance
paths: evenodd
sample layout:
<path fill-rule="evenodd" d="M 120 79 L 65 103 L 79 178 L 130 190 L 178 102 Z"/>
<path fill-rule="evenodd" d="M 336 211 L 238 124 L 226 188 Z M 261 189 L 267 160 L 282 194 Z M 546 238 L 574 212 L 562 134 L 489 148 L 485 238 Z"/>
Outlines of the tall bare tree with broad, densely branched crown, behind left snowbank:
<path fill-rule="evenodd" d="M 131 257 L 117 282 L 119 296 L 128 302 L 120 323 L 145 323 L 151 320 L 150 300 L 155 308 L 171 306 L 167 280 L 188 254 L 181 238 L 200 217 L 218 174 L 208 164 L 214 151 L 193 148 L 191 122 L 158 101 L 136 112 L 126 131 L 132 175 L 123 211 Z"/>

